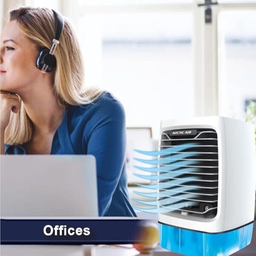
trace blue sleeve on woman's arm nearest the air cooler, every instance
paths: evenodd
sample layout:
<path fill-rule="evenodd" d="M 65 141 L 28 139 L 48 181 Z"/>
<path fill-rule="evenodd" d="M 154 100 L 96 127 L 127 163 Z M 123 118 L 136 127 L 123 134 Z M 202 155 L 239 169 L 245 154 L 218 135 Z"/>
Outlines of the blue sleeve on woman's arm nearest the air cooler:
<path fill-rule="evenodd" d="M 125 111 L 119 101 L 111 98 L 93 117 L 94 125 L 89 137 L 87 134 L 87 154 L 96 157 L 99 216 L 103 216 L 111 204 L 125 162 Z"/>

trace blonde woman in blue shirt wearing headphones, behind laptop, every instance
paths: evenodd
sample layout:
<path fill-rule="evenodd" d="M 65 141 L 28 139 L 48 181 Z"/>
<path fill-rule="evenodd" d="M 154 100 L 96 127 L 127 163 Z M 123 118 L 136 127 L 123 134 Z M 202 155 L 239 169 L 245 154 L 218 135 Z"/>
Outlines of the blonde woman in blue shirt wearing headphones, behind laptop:
<path fill-rule="evenodd" d="M 136 216 L 127 190 L 124 109 L 111 93 L 84 88 L 79 44 L 66 19 L 54 69 L 36 67 L 54 36 L 52 10 L 10 12 L 1 35 L 1 154 L 92 154 L 99 215 Z"/>

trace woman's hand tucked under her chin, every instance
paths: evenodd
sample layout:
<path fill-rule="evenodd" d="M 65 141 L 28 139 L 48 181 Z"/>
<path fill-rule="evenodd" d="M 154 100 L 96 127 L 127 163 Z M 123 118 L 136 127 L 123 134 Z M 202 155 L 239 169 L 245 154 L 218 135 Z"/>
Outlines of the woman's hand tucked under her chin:
<path fill-rule="evenodd" d="M 11 111 L 17 113 L 20 108 L 19 96 L 1 90 L 1 133 L 6 129 L 10 121 Z"/>

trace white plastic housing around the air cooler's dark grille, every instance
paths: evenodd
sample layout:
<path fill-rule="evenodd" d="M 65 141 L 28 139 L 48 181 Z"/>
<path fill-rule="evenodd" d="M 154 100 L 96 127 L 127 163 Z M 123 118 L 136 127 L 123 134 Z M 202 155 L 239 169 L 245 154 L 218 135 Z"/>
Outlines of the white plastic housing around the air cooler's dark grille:
<path fill-rule="evenodd" d="M 163 224 L 208 233 L 236 229 L 254 220 L 256 151 L 254 125 L 223 116 L 161 121 L 173 129 L 212 128 L 218 138 L 218 210 L 214 218 L 159 214 Z M 160 146 L 160 143 L 159 143 Z"/>

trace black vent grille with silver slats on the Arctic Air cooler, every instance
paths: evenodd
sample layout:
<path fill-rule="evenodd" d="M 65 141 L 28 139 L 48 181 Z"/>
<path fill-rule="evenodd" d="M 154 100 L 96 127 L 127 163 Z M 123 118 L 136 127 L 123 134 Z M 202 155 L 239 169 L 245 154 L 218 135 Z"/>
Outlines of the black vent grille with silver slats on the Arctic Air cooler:
<path fill-rule="evenodd" d="M 218 209 L 217 133 L 210 128 L 193 128 L 190 131 L 168 130 L 161 134 L 160 149 L 185 144 L 189 146 L 160 157 L 170 157 L 172 161 L 159 164 L 159 167 L 171 167 L 169 172 L 159 172 L 159 194 L 163 195 L 158 198 L 159 207 L 170 209 L 168 215 L 179 213 L 214 218 Z M 165 178 L 166 174 L 172 177 Z"/>

